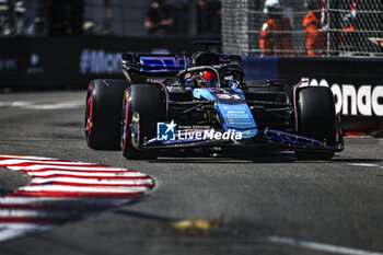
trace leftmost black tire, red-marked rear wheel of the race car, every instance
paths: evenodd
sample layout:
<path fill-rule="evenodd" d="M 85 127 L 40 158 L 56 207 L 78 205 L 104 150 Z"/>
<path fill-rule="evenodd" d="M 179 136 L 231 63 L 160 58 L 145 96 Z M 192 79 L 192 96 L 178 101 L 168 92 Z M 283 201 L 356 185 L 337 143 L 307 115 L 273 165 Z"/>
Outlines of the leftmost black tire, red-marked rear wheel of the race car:
<path fill-rule="evenodd" d="M 89 84 L 85 139 L 95 150 L 119 150 L 123 97 L 128 82 L 93 80 Z"/>

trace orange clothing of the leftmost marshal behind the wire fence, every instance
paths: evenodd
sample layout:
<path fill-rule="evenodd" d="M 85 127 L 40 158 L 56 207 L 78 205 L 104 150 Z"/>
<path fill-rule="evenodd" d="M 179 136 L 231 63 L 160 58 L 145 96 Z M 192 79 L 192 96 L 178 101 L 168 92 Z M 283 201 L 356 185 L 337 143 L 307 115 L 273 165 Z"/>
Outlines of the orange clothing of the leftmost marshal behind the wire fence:
<path fill-rule="evenodd" d="M 280 21 L 269 19 L 260 31 L 259 47 L 262 56 L 290 56 L 294 55 L 294 44 L 291 32 L 292 26 L 288 18 Z"/>

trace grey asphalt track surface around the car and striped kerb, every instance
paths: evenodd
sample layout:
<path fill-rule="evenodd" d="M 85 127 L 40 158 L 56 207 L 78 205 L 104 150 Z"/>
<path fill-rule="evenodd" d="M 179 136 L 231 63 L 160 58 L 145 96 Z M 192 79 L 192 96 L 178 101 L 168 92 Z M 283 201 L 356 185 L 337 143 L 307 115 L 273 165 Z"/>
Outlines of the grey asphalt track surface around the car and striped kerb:
<path fill-rule="evenodd" d="M 0 94 L 0 153 L 131 169 L 155 187 L 136 202 L 2 242 L 0 254 L 383 254 L 382 139 L 347 138 L 333 161 L 290 152 L 127 161 L 86 147 L 84 100 L 84 91 Z M 27 182 L 0 169 L 1 195 Z"/>

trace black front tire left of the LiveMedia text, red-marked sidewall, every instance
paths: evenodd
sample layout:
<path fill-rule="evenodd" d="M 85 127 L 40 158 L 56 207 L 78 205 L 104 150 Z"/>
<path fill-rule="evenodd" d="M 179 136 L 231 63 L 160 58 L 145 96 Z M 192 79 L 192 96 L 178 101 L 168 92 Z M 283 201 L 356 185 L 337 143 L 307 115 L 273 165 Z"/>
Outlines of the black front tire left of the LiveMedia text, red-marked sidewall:
<path fill-rule="evenodd" d="M 156 137 L 156 123 L 165 120 L 164 92 L 156 85 L 132 84 L 124 96 L 121 117 L 121 152 L 128 160 L 155 160 L 159 150 L 140 150 Z M 131 127 L 136 134 L 131 132 Z M 136 144 L 136 146 L 135 146 Z"/>

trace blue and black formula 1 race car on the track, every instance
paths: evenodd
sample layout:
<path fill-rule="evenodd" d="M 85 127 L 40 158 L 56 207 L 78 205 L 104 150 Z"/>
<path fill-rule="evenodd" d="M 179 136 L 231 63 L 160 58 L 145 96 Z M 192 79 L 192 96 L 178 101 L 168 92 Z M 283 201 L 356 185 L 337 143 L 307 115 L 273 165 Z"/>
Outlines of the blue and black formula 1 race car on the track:
<path fill-rule="evenodd" d="M 240 56 L 205 51 L 123 55 L 126 80 L 93 80 L 88 90 L 90 148 L 153 160 L 167 149 L 295 151 L 329 160 L 344 149 L 333 93 L 301 82 L 244 81 Z M 290 94 L 290 95 L 289 95 Z"/>

